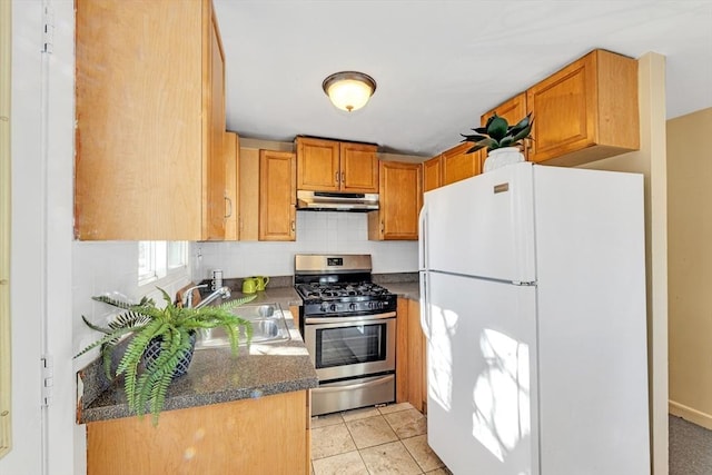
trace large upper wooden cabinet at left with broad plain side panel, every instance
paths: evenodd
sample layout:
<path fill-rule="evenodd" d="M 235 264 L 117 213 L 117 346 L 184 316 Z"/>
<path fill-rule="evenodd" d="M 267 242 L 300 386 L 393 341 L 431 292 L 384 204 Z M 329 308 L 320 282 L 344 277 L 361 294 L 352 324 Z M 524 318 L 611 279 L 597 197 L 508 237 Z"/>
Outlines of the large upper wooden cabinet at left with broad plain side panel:
<path fill-rule="evenodd" d="M 76 11 L 76 237 L 222 239 L 225 56 L 210 0 Z"/>

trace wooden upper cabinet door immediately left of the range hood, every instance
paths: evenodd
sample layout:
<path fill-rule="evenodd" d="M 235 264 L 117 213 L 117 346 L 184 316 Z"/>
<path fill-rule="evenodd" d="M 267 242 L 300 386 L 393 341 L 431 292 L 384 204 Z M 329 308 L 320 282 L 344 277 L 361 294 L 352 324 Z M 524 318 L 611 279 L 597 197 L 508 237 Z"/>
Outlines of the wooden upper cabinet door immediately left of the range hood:
<path fill-rule="evenodd" d="M 259 240 L 296 239 L 296 159 L 288 151 L 259 151 Z"/>

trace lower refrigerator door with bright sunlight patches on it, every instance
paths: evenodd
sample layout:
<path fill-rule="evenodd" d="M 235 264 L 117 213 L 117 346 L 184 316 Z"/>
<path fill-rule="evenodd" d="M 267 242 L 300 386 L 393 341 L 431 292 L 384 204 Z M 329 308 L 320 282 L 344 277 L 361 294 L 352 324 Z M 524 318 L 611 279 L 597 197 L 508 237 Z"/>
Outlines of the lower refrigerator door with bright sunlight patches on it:
<path fill-rule="evenodd" d="M 455 474 L 538 474 L 534 287 L 427 284 L 428 445 Z"/>

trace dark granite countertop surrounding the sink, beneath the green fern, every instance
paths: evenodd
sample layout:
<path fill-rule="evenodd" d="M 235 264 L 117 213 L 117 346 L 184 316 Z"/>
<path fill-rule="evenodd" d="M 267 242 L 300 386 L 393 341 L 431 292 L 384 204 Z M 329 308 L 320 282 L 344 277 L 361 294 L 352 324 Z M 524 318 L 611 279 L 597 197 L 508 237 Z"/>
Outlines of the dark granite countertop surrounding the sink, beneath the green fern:
<path fill-rule="evenodd" d="M 238 356 L 233 356 L 229 347 L 196 349 L 188 373 L 170 385 L 164 410 L 304 390 L 318 385 L 314 364 L 301 335 L 294 327 L 288 305 L 285 305 L 295 301 L 290 300 L 293 296 L 287 289 L 284 295 L 277 289 L 269 290 L 260 293 L 256 301 L 281 300 L 281 297 L 286 299 L 280 305 L 291 339 L 253 344 L 249 348 L 240 347 Z M 296 303 L 299 303 L 298 297 Z M 101 369 L 97 365 L 90 368 L 91 366 L 79 372 L 85 397 L 77 408 L 77 422 L 86 424 L 132 416 L 122 387 L 113 384 L 100 392 L 90 387 L 97 384 L 96 379 L 103 378 Z M 92 392 L 98 394 L 89 396 Z M 85 405 L 83 400 L 90 398 L 92 400 Z"/>

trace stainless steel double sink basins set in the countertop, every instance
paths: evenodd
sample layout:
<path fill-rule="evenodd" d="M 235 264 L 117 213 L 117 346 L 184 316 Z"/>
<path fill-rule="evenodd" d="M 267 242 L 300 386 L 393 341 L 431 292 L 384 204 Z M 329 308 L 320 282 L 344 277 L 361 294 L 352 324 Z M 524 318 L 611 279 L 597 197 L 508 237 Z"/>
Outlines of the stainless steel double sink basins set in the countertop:
<path fill-rule="evenodd" d="M 291 338 L 287 321 L 279 304 L 244 305 L 237 307 L 236 315 L 250 320 L 253 324 L 251 344 L 285 342 Z M 238 328 L 239 345 L 247 344 L 245 328 Z M 201 329 L 196 342 L 196 349 L 230 346 L 230 339 L 225 328 Z"/>

